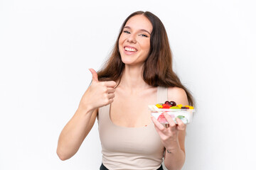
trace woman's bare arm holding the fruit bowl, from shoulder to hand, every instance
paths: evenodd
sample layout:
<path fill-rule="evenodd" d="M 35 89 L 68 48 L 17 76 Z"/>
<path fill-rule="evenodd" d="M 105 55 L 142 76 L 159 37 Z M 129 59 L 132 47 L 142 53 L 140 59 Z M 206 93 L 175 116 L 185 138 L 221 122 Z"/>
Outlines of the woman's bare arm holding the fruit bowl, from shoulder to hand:
<path fill-rule="evenodd" d="M 180 88 L 168 89 L 168 100 L 175 101 L 176 104 L 188 105 L 188 98 L 186 92 Z M 164 165 L 169 170 L 179 170 L 185 162 L 185 135 L 186 125 L 180 120 L 176 119 L 176 123 L 172 120 L 168 113 L 164 113 L 166 120 L 169 122 L 169 128 L 165 128 L 154 117 L 152 120 L 155 124 L 156 131 L 161 137 L 161 141 L 166 148 L 164 153 Z"/>

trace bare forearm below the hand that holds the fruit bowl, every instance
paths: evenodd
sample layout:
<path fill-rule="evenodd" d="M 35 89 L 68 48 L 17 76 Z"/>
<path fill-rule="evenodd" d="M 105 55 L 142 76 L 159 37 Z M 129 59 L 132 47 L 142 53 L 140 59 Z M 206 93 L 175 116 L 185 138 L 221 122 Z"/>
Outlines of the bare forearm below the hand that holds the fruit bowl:
<path fill-rule="evenodd" d="M 166 148 L 164 165 L 168 170 L 180 170 L 185 162 L 185 153 L 178 145 L 178 142 Z"/>

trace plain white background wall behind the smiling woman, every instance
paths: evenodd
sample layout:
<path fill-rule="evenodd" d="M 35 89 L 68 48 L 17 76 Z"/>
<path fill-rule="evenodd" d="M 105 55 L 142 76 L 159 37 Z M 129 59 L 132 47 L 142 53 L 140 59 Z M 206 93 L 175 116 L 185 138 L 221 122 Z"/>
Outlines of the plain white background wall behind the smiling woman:
<path fill-rule="evenodd" d="M 255 167 L 255 3 L 0 0 L 0 169 L 99 169 L 97 123 L 71 159 L 55 150 L 124 19 L 151 11 L 196 98 L 186 170 Z"/>

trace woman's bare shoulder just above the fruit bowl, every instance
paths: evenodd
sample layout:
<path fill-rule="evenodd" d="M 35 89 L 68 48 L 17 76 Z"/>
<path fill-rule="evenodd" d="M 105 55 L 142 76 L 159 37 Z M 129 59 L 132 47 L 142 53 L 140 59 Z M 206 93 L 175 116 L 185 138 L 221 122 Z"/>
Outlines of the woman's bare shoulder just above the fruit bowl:
<path fill-rule="evenodd" d="M 168 88 L 168 100 L 175 101 L 176 104 L 182 104 L 184 106 L 188 105 L 188 97 L 186 95 L 186 91 L 179 87 Z"/>

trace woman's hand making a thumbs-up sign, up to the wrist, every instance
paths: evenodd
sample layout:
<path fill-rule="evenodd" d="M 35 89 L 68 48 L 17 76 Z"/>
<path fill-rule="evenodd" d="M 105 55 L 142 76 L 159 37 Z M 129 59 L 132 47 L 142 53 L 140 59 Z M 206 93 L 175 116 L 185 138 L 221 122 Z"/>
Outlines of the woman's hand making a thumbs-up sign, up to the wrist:
<path fill-rule="evenodd" d="M 92 73 L 92 84 L 88 87 L 79 104 L 79 109 L 89 111 L 102 106 L 107 106 L 114 101 L 115 81 L 99 81 L 97 72 L 89 69 Z"/>

